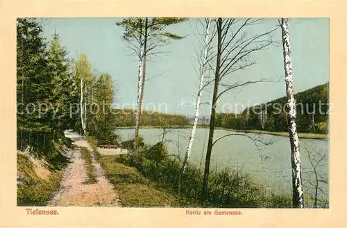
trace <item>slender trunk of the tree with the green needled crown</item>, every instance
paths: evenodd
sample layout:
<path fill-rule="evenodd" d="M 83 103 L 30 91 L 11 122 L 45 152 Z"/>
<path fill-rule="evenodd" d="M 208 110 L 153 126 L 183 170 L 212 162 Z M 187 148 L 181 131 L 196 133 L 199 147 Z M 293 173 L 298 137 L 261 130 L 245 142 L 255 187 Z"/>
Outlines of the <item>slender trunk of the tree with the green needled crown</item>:
<path fill-rule="evenodd" d="M 136 108 L 136 117 L 135 117 L 135 138 L 134 138 L 134 151 L 137 150 L 137 145 L 139 143 L 139 118 L 141 116 L 141 94 L 142 94 L 142 84 L 144 83 L 144 74 L 143 74 L 143 63 L 144 63 L 144 36 L 139 37 L 139 76 L 137 80 L 137 108 Z"/>

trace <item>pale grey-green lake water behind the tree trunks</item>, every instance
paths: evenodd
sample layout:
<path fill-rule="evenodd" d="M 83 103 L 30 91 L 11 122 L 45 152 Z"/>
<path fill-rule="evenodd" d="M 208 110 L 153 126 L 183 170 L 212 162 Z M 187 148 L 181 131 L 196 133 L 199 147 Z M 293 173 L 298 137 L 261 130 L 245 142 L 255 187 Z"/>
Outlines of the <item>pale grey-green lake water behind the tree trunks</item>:
<path fill-rule="evenodd" d="M 165 134 L 166 145 L 171 154 L 184 156 L 187 149 L 189 134 L 191 129 L 167 129 Z M 134 129 L 117 129 L 116 133 L 123 140 L 133 138 Z M 139 129 L 139 134 L 144 138 L 144 142 L 155 144 L 162 140 L 162 129 Z M 214 140 L 230 133 L 237 133 L 227 130 L 217 129 L 214 131 Z M 219 140 L 212 149 L 210 169 L 232 168 L 242 170 L 251 175 L 253 179 L 264 184 L 268 190 L 275 192 L 291 191 L 291 157 L 290 144 L 287 136 L 272 136 L 269 134 L 248 133 L 248 136 L 271 142 L 270 145 L 263 145 L 245 136 L 228 136 Z M 205 153 L 208 145 L 208 129 L 196 129 L 190 163 L 201 165 L 205 162 Z M 325 152 L 327 158 L 321 162 L 319 173 L 328 175 L 328 140 L 300 139 L 301 145 L 301 165 L 303 167 L 304 190 L 308 189 L 309 175 L 307 171 L 313 170 L 307 151 Z M 259 149 L 258 149 L 259 147 Z M 310 178 L 312 181 L 314 179 Z M 306 186 L 306 189 L 305 189 Z M 328 185 L 323 189 L 328 192 Z M 328 196 L 326 196 L 328 198 Z M 324 197 L 325 198 L 325 197 Z"/>

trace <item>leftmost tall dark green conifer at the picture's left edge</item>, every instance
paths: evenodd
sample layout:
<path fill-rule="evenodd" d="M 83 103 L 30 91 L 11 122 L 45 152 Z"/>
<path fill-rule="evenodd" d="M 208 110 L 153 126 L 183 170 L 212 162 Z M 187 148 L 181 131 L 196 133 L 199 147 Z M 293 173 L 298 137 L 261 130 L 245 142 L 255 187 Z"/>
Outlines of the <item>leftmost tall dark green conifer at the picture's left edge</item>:
<path fill-rule="evenodd" d="M 35 19 L 17 19 L 17 145 L 42 147 L 42 134 L 52 131 L 50 113 L 41 115 L 38 106 L 49 103 L 51 74 L 47 70 L 46 41 Z"/>

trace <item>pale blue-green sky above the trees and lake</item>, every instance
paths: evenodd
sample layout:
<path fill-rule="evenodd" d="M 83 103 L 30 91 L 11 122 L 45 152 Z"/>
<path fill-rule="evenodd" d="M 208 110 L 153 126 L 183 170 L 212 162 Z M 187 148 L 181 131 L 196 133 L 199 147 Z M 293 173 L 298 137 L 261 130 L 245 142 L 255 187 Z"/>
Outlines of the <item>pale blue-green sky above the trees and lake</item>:
<path fill-rule="evenodd" d="M 121 39 L 124 29 L 117 26 L 117 18 L 50 18 L 44 22 L 44 36 L 49 40 L 56 30 L 60 42 L 69 51 L 69 58 L 78 59 L 86 54 L 94 72 L 108 73 L 117 87 L 115 94 L 119 107 L 132 107 L 137 96 L 137 58 L 131 55 L 126 42 Z M 190 104 L 198 90 L 198 76 L 194 67 L 198 35 L 196 19 L 169 27 L 169 31 L 187 35 L 183 40 L 174 40 L 160 49 L 169 51 L 167 56 L 152 59 L 147 64 L 147 78 L 161 74 L 147 81 L 144 88 L 144 108 L 193 115 L 192 105 L 179 105 L 182 101 Z M 278 25 L 278 19 L 265 19 L 248 33 L 262 32 Z M 328 19 L 290 19 L 289 33 L 294 75 L 294 90 L 300 92 L 329 81 L 329 20 Z M 281 39 L 280 30 L 274 34 Z M 270 47 L 254 56 L 257 64 L 242 72 L 226 76 L 232 81 L 237 76 L 245 80 L 257 80 L 261 76 L 276 79 L 283 76 L 282 47 Z M 212 76 L 212 74 L 211 74 Z M 227 78 L 228 77 L 228 78 Z M 203 101 L 209 101 L 212 88 L 204 91 Z M 285 96 L 284 78 L 278 83 L 257 83 L 242 90 L 232 91 L 221 97 L 221 104 L 232 111 L 236 104 L 253 105 Z M 128 104 L 128 105 L 127 105 Z M 159 106 L 162 104 L 162 106 Z M 166 105 L 163 105 L 166 104 Z M 221 110 L 219 104 L 219 110 Z M 210 107 L 203 105 L 203 115 L 208 115 Z M 226 110 L 224 109 L 224 110 Z"/>

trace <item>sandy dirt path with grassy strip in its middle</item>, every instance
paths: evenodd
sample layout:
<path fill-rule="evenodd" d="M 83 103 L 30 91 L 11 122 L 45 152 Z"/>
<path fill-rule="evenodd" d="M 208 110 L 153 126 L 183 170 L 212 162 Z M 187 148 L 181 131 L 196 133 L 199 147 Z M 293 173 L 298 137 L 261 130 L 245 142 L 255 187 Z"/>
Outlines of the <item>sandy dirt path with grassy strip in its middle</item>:
<path fill-rule="evenodd" d="M 85 161 L 81 157 L 81 147 L 87 147 L 90 152 L 92 148 L 77 133 L 67 131 L 65 136 L 74 140 L 74 145 L 78 148 L 71 151 L 71 163 L 67 165 L 58 192 L 49 200 L 47 206 L 120 206 L 115 189 L 105 178 L 100 164 L 92 153 L 97 182 L 83 184 L 87 173 Z"/>

